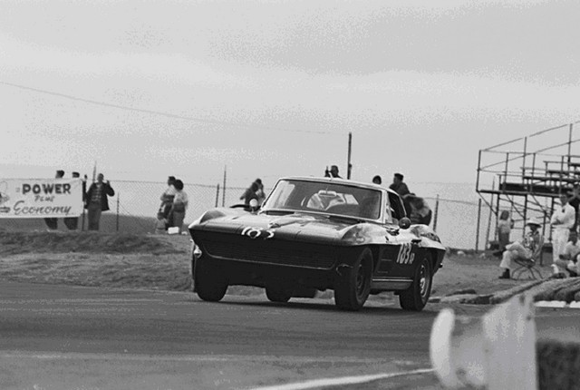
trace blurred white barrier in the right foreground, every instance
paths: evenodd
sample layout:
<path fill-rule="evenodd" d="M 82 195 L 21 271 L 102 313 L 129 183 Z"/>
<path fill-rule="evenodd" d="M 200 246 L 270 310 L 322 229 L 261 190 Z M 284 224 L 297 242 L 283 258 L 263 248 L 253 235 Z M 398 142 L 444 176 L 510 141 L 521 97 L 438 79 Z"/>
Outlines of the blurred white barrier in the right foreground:
<path fill-rule="evenodd" d="M 518 295 L 480 318 L 441 310 L 430 335 L 430 360 L 448 388 L 536 389 L 536 322 L 532 297 Z"/>

